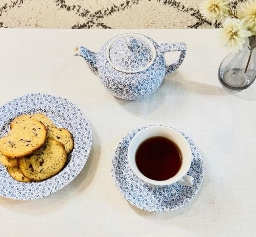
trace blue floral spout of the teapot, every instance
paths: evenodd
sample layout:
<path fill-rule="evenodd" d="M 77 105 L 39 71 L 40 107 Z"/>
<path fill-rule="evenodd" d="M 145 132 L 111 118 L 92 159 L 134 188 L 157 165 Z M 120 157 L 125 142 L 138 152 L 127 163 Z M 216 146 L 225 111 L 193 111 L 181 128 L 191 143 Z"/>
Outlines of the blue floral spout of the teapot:
<path fill-rule="evenodd" d="M 98 76 L 98 57 L 97 53 L 92 52 L 91 50 L 78 46 L 74 48 L 74 55 L 81 56 L 85 59 L 91 71 Z"/>

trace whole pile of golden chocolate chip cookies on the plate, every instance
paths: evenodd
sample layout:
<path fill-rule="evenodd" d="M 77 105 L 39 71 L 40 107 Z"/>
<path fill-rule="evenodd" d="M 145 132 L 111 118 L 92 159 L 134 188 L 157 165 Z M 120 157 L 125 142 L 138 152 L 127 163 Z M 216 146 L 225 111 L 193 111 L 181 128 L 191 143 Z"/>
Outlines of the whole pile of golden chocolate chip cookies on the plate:
<path fill-rule="evenodd" d="M 59 173 L 72 151 L 72 134 L 57 128 L 44 114 L 21 115 L 0 139 L 0 161 L 21 182 L 39 181 Z"/>

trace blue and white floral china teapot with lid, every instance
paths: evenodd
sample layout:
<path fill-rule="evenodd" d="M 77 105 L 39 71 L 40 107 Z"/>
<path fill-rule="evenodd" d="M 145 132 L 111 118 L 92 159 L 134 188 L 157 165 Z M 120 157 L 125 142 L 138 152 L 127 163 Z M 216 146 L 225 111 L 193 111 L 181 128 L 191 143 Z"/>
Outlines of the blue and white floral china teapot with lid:
<path fill-rule="evenodd" d="M 82 56 L 105 88 L 125 100 L 141 99 L 154 92 L 165 75 L 175 71 L 186 55 L 185 43 L 158 45 L 148 36 L 125 33 L 109 39 L 98 53 L 79 46 L 74 55 Z M 179 51 L 176 62 L 167 66 L 164 53 Z"/>

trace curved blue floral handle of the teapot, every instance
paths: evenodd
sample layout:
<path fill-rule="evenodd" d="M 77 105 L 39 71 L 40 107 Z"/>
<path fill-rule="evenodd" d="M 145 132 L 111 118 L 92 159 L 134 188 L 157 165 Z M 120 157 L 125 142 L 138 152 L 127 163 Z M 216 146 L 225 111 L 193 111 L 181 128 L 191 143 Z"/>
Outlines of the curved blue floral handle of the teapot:
<path fill-rule="evenodd" d="M 160 45 L 160 51 L 162 53 L 180 51 L 178 60 L 175 63 L 171 64 L 170 66 L 166 67 L 165 74 L 167 75 L 167 74 L 175 71 L 176 69 L 178 69 L 178 67 L 182 64 L 182 62 L 186 56 L 187 47 L 184 42 L 182 42 L 182 43 L 162 43 Z"/>

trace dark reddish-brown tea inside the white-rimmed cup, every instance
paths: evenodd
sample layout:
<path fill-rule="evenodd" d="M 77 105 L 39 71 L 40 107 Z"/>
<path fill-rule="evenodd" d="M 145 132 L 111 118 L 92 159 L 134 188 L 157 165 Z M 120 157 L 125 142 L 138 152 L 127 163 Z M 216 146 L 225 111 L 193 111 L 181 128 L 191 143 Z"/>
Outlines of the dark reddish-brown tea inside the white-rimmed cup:
<path fill-rule="evenodd" d="M 137 148 L 135 162 L 143 175 L 153 180 L 166 180 L 182 166 L 182 153 L 176 143 L 164 136 L 153 136 Z"/>

